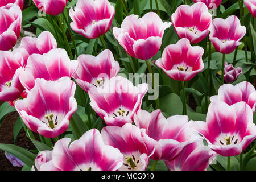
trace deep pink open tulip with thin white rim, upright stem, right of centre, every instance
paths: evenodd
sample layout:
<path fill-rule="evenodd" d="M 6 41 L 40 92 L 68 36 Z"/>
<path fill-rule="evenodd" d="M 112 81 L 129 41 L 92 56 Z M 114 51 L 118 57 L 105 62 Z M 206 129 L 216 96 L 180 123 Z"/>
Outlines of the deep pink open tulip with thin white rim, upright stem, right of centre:
<path fill-rule="evenodd" d="M 167 46 L 162 58 L 156 60 L 156 65 L 172 79 L 189 81 L 204 69 L 202 55 L 204 49 L 191 46 L 187 38 L 180 39 L 176 44 Z"/>

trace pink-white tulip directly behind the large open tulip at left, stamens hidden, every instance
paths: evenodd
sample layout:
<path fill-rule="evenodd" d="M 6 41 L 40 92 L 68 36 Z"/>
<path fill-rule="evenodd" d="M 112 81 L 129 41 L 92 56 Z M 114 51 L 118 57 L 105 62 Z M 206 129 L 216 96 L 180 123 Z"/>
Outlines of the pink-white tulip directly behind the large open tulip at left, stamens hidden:
<path fill-rule="evenodd" d="M 19 79 L 26 89 L 31 90 L 36 78 L 52 81 L 66 76 L 71 78 L 77 66 L 77 61 L 70 61 L 64 49 L 52 49 L 43 55 L 33 54 L 28 57 L 27 65 L 20 73 Z"/>

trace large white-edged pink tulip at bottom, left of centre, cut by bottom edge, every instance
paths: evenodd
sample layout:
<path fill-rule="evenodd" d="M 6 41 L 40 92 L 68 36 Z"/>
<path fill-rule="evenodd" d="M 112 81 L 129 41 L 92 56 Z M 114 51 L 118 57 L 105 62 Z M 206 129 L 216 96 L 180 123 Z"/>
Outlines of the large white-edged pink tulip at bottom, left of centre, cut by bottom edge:
<path fill-rule="evenodd" d="M 97 129 L 70 142 L 70 138 L 62 138 L 52 150 L 52 164 L 61 171 L 116 171 L 122 166 L 121 152 L 104 144 Z"/>

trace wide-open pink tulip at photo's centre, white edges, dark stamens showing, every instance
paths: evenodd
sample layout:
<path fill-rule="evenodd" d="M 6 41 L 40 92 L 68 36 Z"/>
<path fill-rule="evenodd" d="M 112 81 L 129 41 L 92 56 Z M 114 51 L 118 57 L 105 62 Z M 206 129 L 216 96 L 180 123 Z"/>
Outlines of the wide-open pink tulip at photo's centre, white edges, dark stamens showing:
<path fill-rule="evenodd" d="M 90 105 L 107 125 L 123 126 L 133 122 L 147 89 L 147 84 L 133 86 L 126 78 L 113 77 L 101 87 L 89 89 Z"/>

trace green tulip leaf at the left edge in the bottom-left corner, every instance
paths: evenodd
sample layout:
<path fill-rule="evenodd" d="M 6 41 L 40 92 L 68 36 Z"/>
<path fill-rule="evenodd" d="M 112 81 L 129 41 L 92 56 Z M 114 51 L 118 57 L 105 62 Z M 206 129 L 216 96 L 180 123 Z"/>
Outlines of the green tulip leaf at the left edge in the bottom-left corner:
<path fill-rule="evenodd" d="M 22 162 L 27 164 L 27 166 L 29 167 L 32 167 L 34 165 L 36 155 L 32 154 L 32 152 L 27 151 L 22 147 L 15 146 L 14 144 L 0 143 L 0 150 L 13 154 L 14 156 L 16 156 L 16 158 L 22 160 Z"/>

